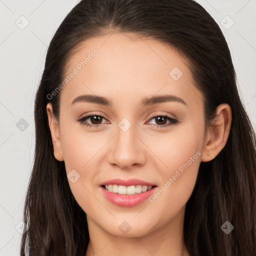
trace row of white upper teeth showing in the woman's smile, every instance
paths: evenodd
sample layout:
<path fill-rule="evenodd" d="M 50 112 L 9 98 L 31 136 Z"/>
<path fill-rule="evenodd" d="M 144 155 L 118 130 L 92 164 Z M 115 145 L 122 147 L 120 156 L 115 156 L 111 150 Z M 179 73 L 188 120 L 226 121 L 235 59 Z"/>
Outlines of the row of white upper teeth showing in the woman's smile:
<path fill-rule="evenodd" d="M 106 190 L 113 193 L 118 194 L 135 194 L 135 193 L 141 193 L 145 192 L 147 190 L 150 190 L 152 186 L 146 186 L 146 185 L 131 185 L 131 186 L 123 186 L 123 185 L 116 185 L 116 184 L 109 184 L 105 185 Z"/>

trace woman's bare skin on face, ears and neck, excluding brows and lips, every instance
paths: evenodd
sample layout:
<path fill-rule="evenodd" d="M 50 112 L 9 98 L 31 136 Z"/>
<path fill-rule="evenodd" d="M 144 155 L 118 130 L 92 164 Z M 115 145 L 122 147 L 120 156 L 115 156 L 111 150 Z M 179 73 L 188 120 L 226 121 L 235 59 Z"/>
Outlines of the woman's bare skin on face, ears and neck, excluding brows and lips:
<path fill-rule="evenodd" d="M 87 216 L 86 256 L 189 255 L 182 249 L 185 204 L 200 162 L 213 159 L 226 143 L 230 106 L 219 105 L 214 125 L 205 129 L 203 95 L 186 61 L 170 46 L 132 34 L 115 32 L 82 42 L 67 63 L 66 74 L 94 48 L 98 54 L 61 89 L 59 120 L 50 103 L 46 108 L 55 158 L 64 160 L 67 174 L 75 169 L 80 175 L 74 183 L 68 182 Z M 169 75 L 173 67 L 183 73 L 177 80 Z M 104 96 L 113 104 L 71 104 L 82 94 Z M 140 106 L 142 98 L 162 94 L 178 96 L 186 105 L 168 101 Z M 95 113 L 104 117 L 101 124 L 92 118 L 84 122 L 99 127 L 76 120 Z M 171 122 L 157 122 L 152 113 L 168 115 L 178 123 L 160 127 Z M 131 123 L 125 132 L 118 126 L 123 118 Z M 101 182 L 116 177 L 135 177 L 160 188 L 196 152 L 198 158 L 153 202 L 121 207 L 100 191 Z M 118 228 L 123 221 L 131 227 L 125 234 Z"/>

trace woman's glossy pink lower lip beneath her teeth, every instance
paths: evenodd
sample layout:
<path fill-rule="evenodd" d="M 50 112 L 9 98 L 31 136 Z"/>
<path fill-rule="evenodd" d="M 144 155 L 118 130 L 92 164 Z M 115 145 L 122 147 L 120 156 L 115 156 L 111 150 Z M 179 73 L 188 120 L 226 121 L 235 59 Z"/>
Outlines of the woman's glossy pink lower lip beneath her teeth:
<path fill-rule="evenodd" d="M 118 206 L 130 207 L 130 206 L 135 206 L 135 205 L 141 203 L 142 201 L 146 200 L 157 189 L 157 186 L 155 186 L 145 192 L 135 193 L 135 194 L 131 194 L 131 195 L 109 192 L 102 186 L 100 186 L 100 188 L 101 188 L 104 196 L 110 202 L 112 202 Z"/>

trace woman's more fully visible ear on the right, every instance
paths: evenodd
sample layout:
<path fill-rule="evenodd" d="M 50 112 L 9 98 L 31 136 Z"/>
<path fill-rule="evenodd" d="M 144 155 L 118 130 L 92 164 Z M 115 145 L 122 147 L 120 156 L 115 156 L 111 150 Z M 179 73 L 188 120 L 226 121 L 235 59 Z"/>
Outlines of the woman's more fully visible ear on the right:
<path fill-rule="evenodd" d="M 226 103 L 218 105 L 216 118 L 214 118 L 213 123 L 207 127 L 204 147 L 201 154 L 202 162 L 207 162 L 215 158 L 225 146 L 230 131 L 231 119 L 231 107 Z"/>

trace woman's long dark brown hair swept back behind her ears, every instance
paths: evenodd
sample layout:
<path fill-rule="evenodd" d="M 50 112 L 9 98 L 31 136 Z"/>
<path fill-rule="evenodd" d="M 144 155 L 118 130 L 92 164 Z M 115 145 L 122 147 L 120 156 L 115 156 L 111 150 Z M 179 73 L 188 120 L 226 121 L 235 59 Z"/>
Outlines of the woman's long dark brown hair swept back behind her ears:
<path fill-rule="evenodd" d="M 86 251 L 85 212 L 67 182 L 64 162 L 53 155 L 46 104 L 59 117 L 59 95 L 47 97 L 61 83 L 72 51 L 98 35 L 131 32 L 172 45 L 190 63 L 204 96 L 205 123 L 216 107 L 228 103 L 232 123 L 226 145 L 201 162 L 186 203 L 184 242 L 192 256 L 256 255 L 255 133 L 239 98 L 226 40 L 214 19 L 193 0 L 81 0 L 50 41 L 34 104 L 35 156 L 24 205 L 20 255 L 75 255 Z M 221 225 L 234 229 L 226 234 Z"/>

